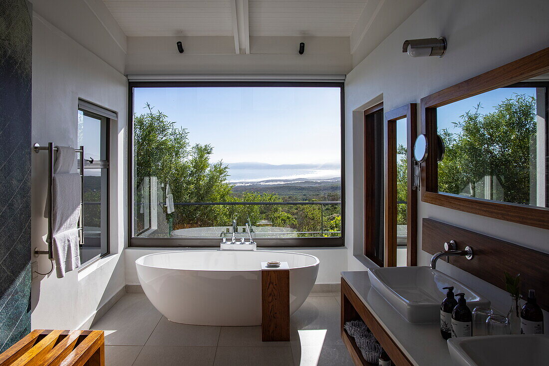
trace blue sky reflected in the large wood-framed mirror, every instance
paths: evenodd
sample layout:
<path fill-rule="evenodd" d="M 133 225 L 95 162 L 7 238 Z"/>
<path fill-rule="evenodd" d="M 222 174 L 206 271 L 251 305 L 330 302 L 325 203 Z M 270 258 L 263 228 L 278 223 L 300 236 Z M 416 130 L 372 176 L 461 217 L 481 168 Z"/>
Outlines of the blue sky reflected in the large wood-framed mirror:
<path fill-rule="evenodd" d="M 441 106 L 436 109 L 438 130 L 447 128 L 449 132 L 458 133 L 461 128 L 456 127 L 452 122 L 462 121 L 460 116 L 467 111 L 474 112 L 477 104 L 480 103 L 482 107 L 479 109 L 480 114 L 488 114 L 496 110 L 496 105 L 505 99 L 513 98 L 516 94 L 531 95 L 535 98 L 536 88 L 499 88 Z"/>

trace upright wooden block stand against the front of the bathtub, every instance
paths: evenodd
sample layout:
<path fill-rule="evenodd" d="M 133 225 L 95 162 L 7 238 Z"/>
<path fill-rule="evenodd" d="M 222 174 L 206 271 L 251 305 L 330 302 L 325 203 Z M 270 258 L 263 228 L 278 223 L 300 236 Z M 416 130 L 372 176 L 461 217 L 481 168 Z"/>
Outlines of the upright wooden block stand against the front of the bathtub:
<path fill-rule="evenodd" d="M 261 271 L 261 339 L 290 340 L 290 271 Z"/>

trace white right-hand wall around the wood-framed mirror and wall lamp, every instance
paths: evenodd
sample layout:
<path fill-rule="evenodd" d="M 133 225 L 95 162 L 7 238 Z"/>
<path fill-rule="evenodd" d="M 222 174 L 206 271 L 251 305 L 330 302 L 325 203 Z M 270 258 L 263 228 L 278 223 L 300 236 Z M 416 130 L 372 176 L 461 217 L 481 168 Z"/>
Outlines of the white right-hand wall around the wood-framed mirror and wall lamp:
<path fill-rule="evenodd" d="M 363 122 L 358 111 L 380 100 L 385 111 L 406 103 L 419 103 L 426 95 L 547 47 L 548 12 L 549 2 L 542 0 L 520 3 L 428 0 L 348 74 L 345 82 L 346 220 L 349 227 L 354 228 L 346 234 L 350 270 L 365 268 L 354 255 L 363 246 Z M 401 52 L 402 43 L 407 39 L 439 36 L 446 37 L 448 42 L 442 58 L 411 58 Z M 421 200 L 418 216 L 420 265 L 427 265 L 430 259 L 430 255 L 421 250 L 423 217 L 549 252 L 549 230 L 446 209 Z M 477 289 L 481 286 L 486 295 L 496 301 L 508 300 L 503 291 L 460 269 L 446 263 L 440 263 L 439 267 L 465 283 L 477 285 Z"/>

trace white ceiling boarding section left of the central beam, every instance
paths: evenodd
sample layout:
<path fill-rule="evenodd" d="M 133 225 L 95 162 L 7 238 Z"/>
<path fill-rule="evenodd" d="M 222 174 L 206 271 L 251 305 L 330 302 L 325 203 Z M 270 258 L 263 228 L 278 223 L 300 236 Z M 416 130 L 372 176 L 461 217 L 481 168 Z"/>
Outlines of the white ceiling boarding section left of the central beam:
<path fill-rule="evenodd" d="M 232 36 L 229 0 L 103 0 L 128 37 Z"/>

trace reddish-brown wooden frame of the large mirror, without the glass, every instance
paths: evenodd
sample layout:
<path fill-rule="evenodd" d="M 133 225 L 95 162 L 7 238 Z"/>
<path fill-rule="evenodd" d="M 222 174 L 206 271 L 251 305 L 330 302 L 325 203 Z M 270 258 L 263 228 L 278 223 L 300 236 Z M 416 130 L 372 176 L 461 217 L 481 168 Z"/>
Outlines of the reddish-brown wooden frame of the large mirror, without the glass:
<path fill-rule="evenodd" d="M 513 85 L 549 71 L 549 48 L 475 76 L 421 99 L 422 133 L 429 142 L 436 138 L 436 108 L 490 90 Z M 549 229 L 549 208 L 518 205 L 438 192 L 436 145 L 428 146 L 422 163 L 422 201 L 475 215 Z"/>

